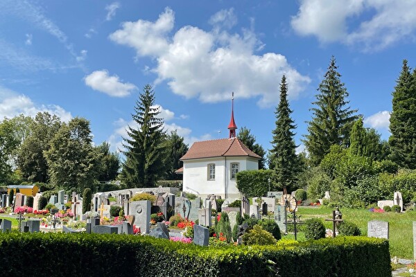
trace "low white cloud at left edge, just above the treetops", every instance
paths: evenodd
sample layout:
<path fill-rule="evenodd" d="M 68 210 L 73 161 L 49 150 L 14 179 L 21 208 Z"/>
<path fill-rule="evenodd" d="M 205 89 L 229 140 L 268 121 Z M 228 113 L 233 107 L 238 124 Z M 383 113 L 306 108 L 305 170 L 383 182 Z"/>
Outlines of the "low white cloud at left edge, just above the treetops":
<path fill-rule="evenodd" d="M 35 116 L 40 111 L 59 116 L 62 121 L 68 122 L 72 116 L 58 105 L 35 105 L 31 98 L 0 86 L 0 118 L 12 118 L 19 114 Z"/>

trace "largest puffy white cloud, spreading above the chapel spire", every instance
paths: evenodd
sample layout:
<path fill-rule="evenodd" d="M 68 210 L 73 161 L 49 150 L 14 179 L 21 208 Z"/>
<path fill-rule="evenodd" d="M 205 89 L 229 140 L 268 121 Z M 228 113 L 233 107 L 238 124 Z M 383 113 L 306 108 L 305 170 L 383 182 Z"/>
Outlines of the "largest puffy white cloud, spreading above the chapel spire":
<path fill-rule="evenodd" d="M 233 15 L 232 10 L 220 11 L 210 21 L 230 21 Z M 198 97 L 202 102 L 229 100 L 229 93 L 235 91 L 238 98 L 257 97 L 261 107 L 270 107 L 279 102 L 277 91 L 283 74 L 290 98 L 296 98 L 311 82 L 284 55 L 255 55 L 261 43 L 252 30 L 238 34 L 218 26 L 211 31 L 184 26 L 169 36 L 174 21 L 173 11 L 166 8 L 155 22 L 139 19 L 123 23 L 110 39 L 135 48 L 138 56 L 154 57 L 157 64 L 151 71 L 157 74 L 156 84 L 167 81 L 173 93 Z"/>

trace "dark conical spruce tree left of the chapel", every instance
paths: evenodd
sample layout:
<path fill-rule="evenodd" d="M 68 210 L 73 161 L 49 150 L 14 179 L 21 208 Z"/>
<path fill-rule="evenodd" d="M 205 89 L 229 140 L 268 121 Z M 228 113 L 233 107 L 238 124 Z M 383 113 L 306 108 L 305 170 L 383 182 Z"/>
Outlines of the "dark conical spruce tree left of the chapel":
<path fill-rule="evenodd" d="M 146 84 L 136 101 L 135 114 L 132 114 L 137 129 L 129 126 L 129 137 L 123 138 L 125 162 L 121 180 L 128 188 L 154 187 L 166 172 L 166 142 L 163 119 L 157 117 L 159 114 L 155 93 L 150 84 Z"/>

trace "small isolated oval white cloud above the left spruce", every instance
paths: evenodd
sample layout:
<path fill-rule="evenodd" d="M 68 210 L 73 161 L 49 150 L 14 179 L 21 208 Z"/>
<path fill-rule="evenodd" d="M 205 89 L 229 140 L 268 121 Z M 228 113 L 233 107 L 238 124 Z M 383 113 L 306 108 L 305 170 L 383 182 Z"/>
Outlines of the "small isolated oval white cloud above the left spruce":
<path fill-rule="evenodd" d="M 88 87 L 114 97 L 128 96 L 133 90 L 137 89 L 134 84 L 121 82 L 117 75 L 108 75 L 107 70 L 94 71 L 85 76 L 84 81 Z"/>

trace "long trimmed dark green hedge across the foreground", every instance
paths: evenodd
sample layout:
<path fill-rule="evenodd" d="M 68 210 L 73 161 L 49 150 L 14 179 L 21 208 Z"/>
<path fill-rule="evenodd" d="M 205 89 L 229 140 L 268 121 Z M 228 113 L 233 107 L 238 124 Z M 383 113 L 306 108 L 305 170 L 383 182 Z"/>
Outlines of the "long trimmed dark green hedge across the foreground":
<path fill-rule="evenodd" d="M 275 266 L 270 266 L 270 260 Z M 391 276 L 388 240 L 198 247 L 149 236 L 0 233 L 4 276 Z"/>

